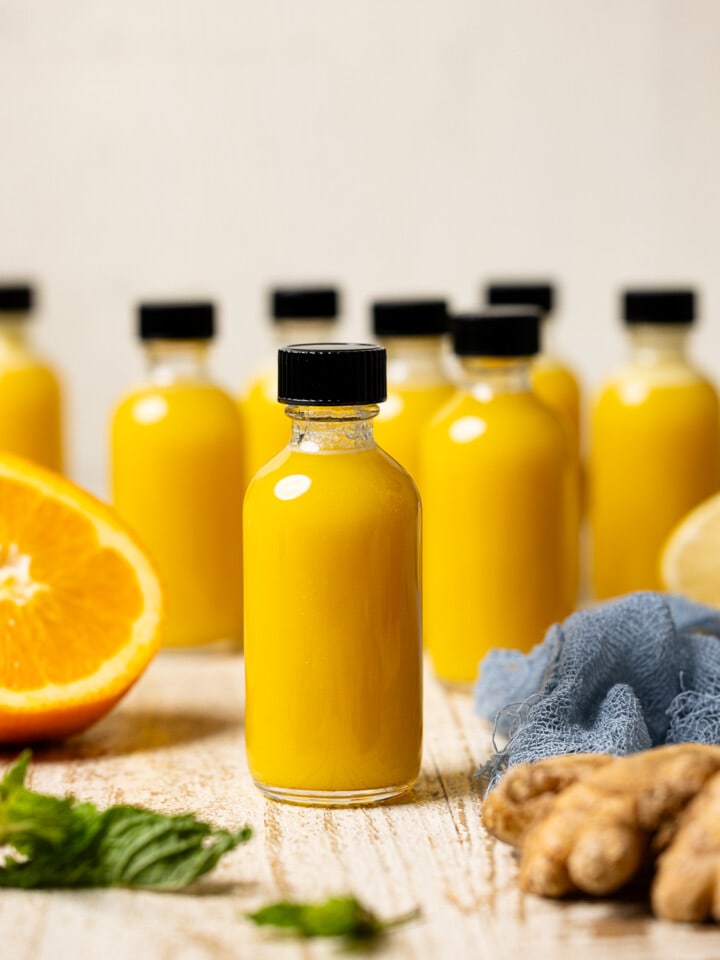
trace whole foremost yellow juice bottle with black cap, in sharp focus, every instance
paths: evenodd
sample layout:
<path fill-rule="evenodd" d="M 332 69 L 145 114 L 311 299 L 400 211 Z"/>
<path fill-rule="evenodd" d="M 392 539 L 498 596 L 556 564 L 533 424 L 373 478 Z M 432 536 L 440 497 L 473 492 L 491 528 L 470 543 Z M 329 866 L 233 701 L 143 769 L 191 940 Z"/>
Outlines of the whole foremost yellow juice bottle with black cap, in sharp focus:
<path fill-rule="evenodd" d="M 373 438 L 385 351 L 279 353 L 290 443 L 245 497 L 245 736 L 268 796 L 405 792 L 422 736 L 419 498 Z"/>

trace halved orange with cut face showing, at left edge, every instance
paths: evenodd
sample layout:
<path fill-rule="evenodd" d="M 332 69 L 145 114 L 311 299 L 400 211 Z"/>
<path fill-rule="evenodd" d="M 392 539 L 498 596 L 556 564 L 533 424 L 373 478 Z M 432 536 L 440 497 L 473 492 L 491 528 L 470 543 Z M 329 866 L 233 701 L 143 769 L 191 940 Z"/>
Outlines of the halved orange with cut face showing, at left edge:
<path fill-rule="evenodd" d="M 117 514 L 0 455 L 0 742 L 94 723 L 148 665 L 162 621 L 157 573 Z"/>

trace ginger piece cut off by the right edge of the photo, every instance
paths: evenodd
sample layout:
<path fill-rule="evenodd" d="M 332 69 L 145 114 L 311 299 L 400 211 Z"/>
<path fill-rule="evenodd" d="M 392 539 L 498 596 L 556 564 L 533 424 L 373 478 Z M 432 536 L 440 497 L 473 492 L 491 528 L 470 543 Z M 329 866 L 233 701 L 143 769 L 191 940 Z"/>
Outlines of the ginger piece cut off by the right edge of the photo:
<path fill-rule="evenodd" d="M 651 900 L 666 920 L 720 921 L 720 773 L 686 807 L 658 860 Z"/>

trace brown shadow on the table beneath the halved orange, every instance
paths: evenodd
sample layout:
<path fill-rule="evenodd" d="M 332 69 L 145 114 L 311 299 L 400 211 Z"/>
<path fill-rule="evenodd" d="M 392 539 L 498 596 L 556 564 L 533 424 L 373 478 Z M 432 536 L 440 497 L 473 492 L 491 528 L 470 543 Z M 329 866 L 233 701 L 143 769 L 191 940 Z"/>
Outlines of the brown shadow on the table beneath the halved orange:
<path fill-rule="evenodd" d="M 32 745 L 36 760 L 91 760 L 162 750 L 224 733 L 240 735 L 242 719 L 228 714 L 204 714 L 197 710 L 118 710 L 110 713 L 85 733 L 61 743 Z M 2 747 L 0 758 L 17 756 L 18 748 Z"/>

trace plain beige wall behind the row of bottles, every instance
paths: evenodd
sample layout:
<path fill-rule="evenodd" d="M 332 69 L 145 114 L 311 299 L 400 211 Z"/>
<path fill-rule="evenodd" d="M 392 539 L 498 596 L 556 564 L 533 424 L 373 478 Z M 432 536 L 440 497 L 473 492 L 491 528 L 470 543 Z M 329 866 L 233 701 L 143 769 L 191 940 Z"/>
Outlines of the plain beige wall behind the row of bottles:
<path fill-rule="evenodd" d="M 0 131 L 0 276 L 97 491 L 142 297 L 215 297 L 237 389 L 275 280 L 341 283 L 361 338 L 376 294 L 550 273 L 595 385 L 618 287 L 692 282 L 720 378 L 718 0 L 0 0 Z"/>

